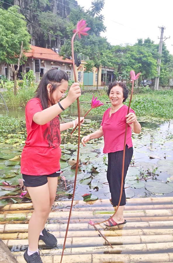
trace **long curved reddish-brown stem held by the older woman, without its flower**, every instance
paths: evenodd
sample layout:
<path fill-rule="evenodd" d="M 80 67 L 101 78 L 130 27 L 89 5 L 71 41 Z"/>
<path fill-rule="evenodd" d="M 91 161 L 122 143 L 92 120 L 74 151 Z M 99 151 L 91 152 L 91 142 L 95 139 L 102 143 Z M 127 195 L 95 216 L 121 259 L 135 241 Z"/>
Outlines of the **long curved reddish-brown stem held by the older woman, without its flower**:
<path fill-rule="evenodd" d="M 131 92 L 131 96 L 130 96 L 129 107 L 128 107 L 128 110 L 127 110 L 127 115 L 129 114 L 130 103 L 132 101 L 133 87 L 134 87 L 134 80 L 133 80 L 133 83 L 132 83 L 132 92 Z M 102 224 L 102 223 L 110 220 L 111 218 L 113 218 L 114 215 L 117 213 L 118 208 L 120 206 L 121 197 L 122 197 L 123 180 L 124 180 L 124 160 L 125 160 L 125 149 L 126 149 L 126 136 L 127 136 L 127 122 L 126 122 L 125 135 L 124 135 L 124 149 L 123 149 L 123 157 L 122 157 L 122 180 L 121 180 L 120 199 L 119 199 L 118 205 L 116 207 L 115 213 L 109 219 L 107 219 L 107 220 L 105 220 L 103 222 L 95 223 L 95 224 Z"/>

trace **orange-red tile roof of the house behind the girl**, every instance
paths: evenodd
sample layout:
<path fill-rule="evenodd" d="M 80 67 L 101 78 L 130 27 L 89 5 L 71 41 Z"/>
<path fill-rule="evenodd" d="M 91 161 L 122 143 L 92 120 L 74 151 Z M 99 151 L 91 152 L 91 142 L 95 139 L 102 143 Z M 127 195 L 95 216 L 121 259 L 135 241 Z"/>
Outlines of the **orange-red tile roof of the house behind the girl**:
<path fill-rule="evenodd" d="M 59 61 L 59 62 L 63 62 L 63 63 L 72 64 L 72 61 L 70 59 L 66 58 L 64 60 L 62 56 L 59 56 L 52 49 L 45 49 L 45 48 L 41 48 L 39 46 L 31 46 L 31 50 L 26 52 L 25 56 L 30 57 L 30 58 Z"/>

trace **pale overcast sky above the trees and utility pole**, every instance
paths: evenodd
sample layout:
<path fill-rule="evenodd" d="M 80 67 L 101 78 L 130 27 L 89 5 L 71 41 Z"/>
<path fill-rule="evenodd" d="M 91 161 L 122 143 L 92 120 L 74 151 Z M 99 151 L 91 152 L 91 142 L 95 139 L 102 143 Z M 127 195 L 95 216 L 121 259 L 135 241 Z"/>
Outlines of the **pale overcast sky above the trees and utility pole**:
<path fill-rule="evenodd" d="M 90 8 L 91 0 L 77 0 L 80 6 Z M 159 43 L 160 29 L 164 30 L 167 49 L 173 55 L 173 3 L 172 0 L 105 0 L 101 12 L 107 31 L 102 33 L 112 45 L 134 44 L 138 38 L 150 37 Z"/>

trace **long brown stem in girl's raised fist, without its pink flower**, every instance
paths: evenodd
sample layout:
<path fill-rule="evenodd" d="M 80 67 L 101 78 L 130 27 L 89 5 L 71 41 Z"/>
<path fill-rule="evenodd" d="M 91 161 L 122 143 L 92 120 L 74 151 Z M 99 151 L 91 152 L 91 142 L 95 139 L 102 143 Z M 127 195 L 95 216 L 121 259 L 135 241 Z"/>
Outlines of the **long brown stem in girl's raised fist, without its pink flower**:
<path fill-rule="evenodd" d="M 76 77 L 76 72 L 75 72 L 75 58 L 74 58 L 74 45 L 73 45 L 73 41 L 75 39 L 76 33 L 73 35 L 72 37 L 72 61 L 73 61 L 73 71 L 74 71 L 74 75 L 75 75 L 75 82 L 77 82 L 77 77 Z M 64 238 L 64 244 L 63 244 L 63 251 L 61 254 L 61 260 L 60 263 L 63 260 L 63 254 L 64 254 L 64 249 L 65 249 L 65 242 L 67 239 L 67 234 L 68 234 L 68 228 L 69 228 L 69 223 L 70 223 L 70 216 L 71 216 L 71 212 L 72 212 L 72 206 L 73 206 L 73 200 L 74 200 L 74 196 L 75 196 L 75 188 L 76 188 L 76 179 L 77 179 L 77 171 L 78 171 L 78 165 L 79 165 L 79 148 L 80 148 L 80 106 L 79 106 L 79 98 L 77 98 L 77 110 L 78 110 L 78 122 L 79 122 L 79 130 L 78 130 L 78 148 L 77 148 L 77 162 L 76 162 L 76 171 L 75 171 L 75 181 L 74 181 L 74 188 L 73 188 L 73 195 L 72 195 L 72 203 L 70 206 L 70 212 L 69 212 L 69 217 L 68 217 L 68 223 L 67 223 L 67 229 L 65 232 L 65 238 Z"/>

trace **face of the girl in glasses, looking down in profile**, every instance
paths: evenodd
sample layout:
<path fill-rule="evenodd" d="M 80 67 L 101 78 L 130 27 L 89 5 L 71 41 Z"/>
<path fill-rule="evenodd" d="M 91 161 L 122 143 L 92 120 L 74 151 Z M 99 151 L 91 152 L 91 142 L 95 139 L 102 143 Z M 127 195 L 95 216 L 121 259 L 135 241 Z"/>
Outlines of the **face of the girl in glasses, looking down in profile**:
<path fill-rule="evenodd" d="M 64 96 L 65 91 L 68 89 L 68 81 L 62 79 L 60 85 L 51 93 L 52 85 L 47 85 L 48 99 L 49 101 L 58 103 L 60 99 Z M 51 95 L 50 95 L 51 94 Z"/>

